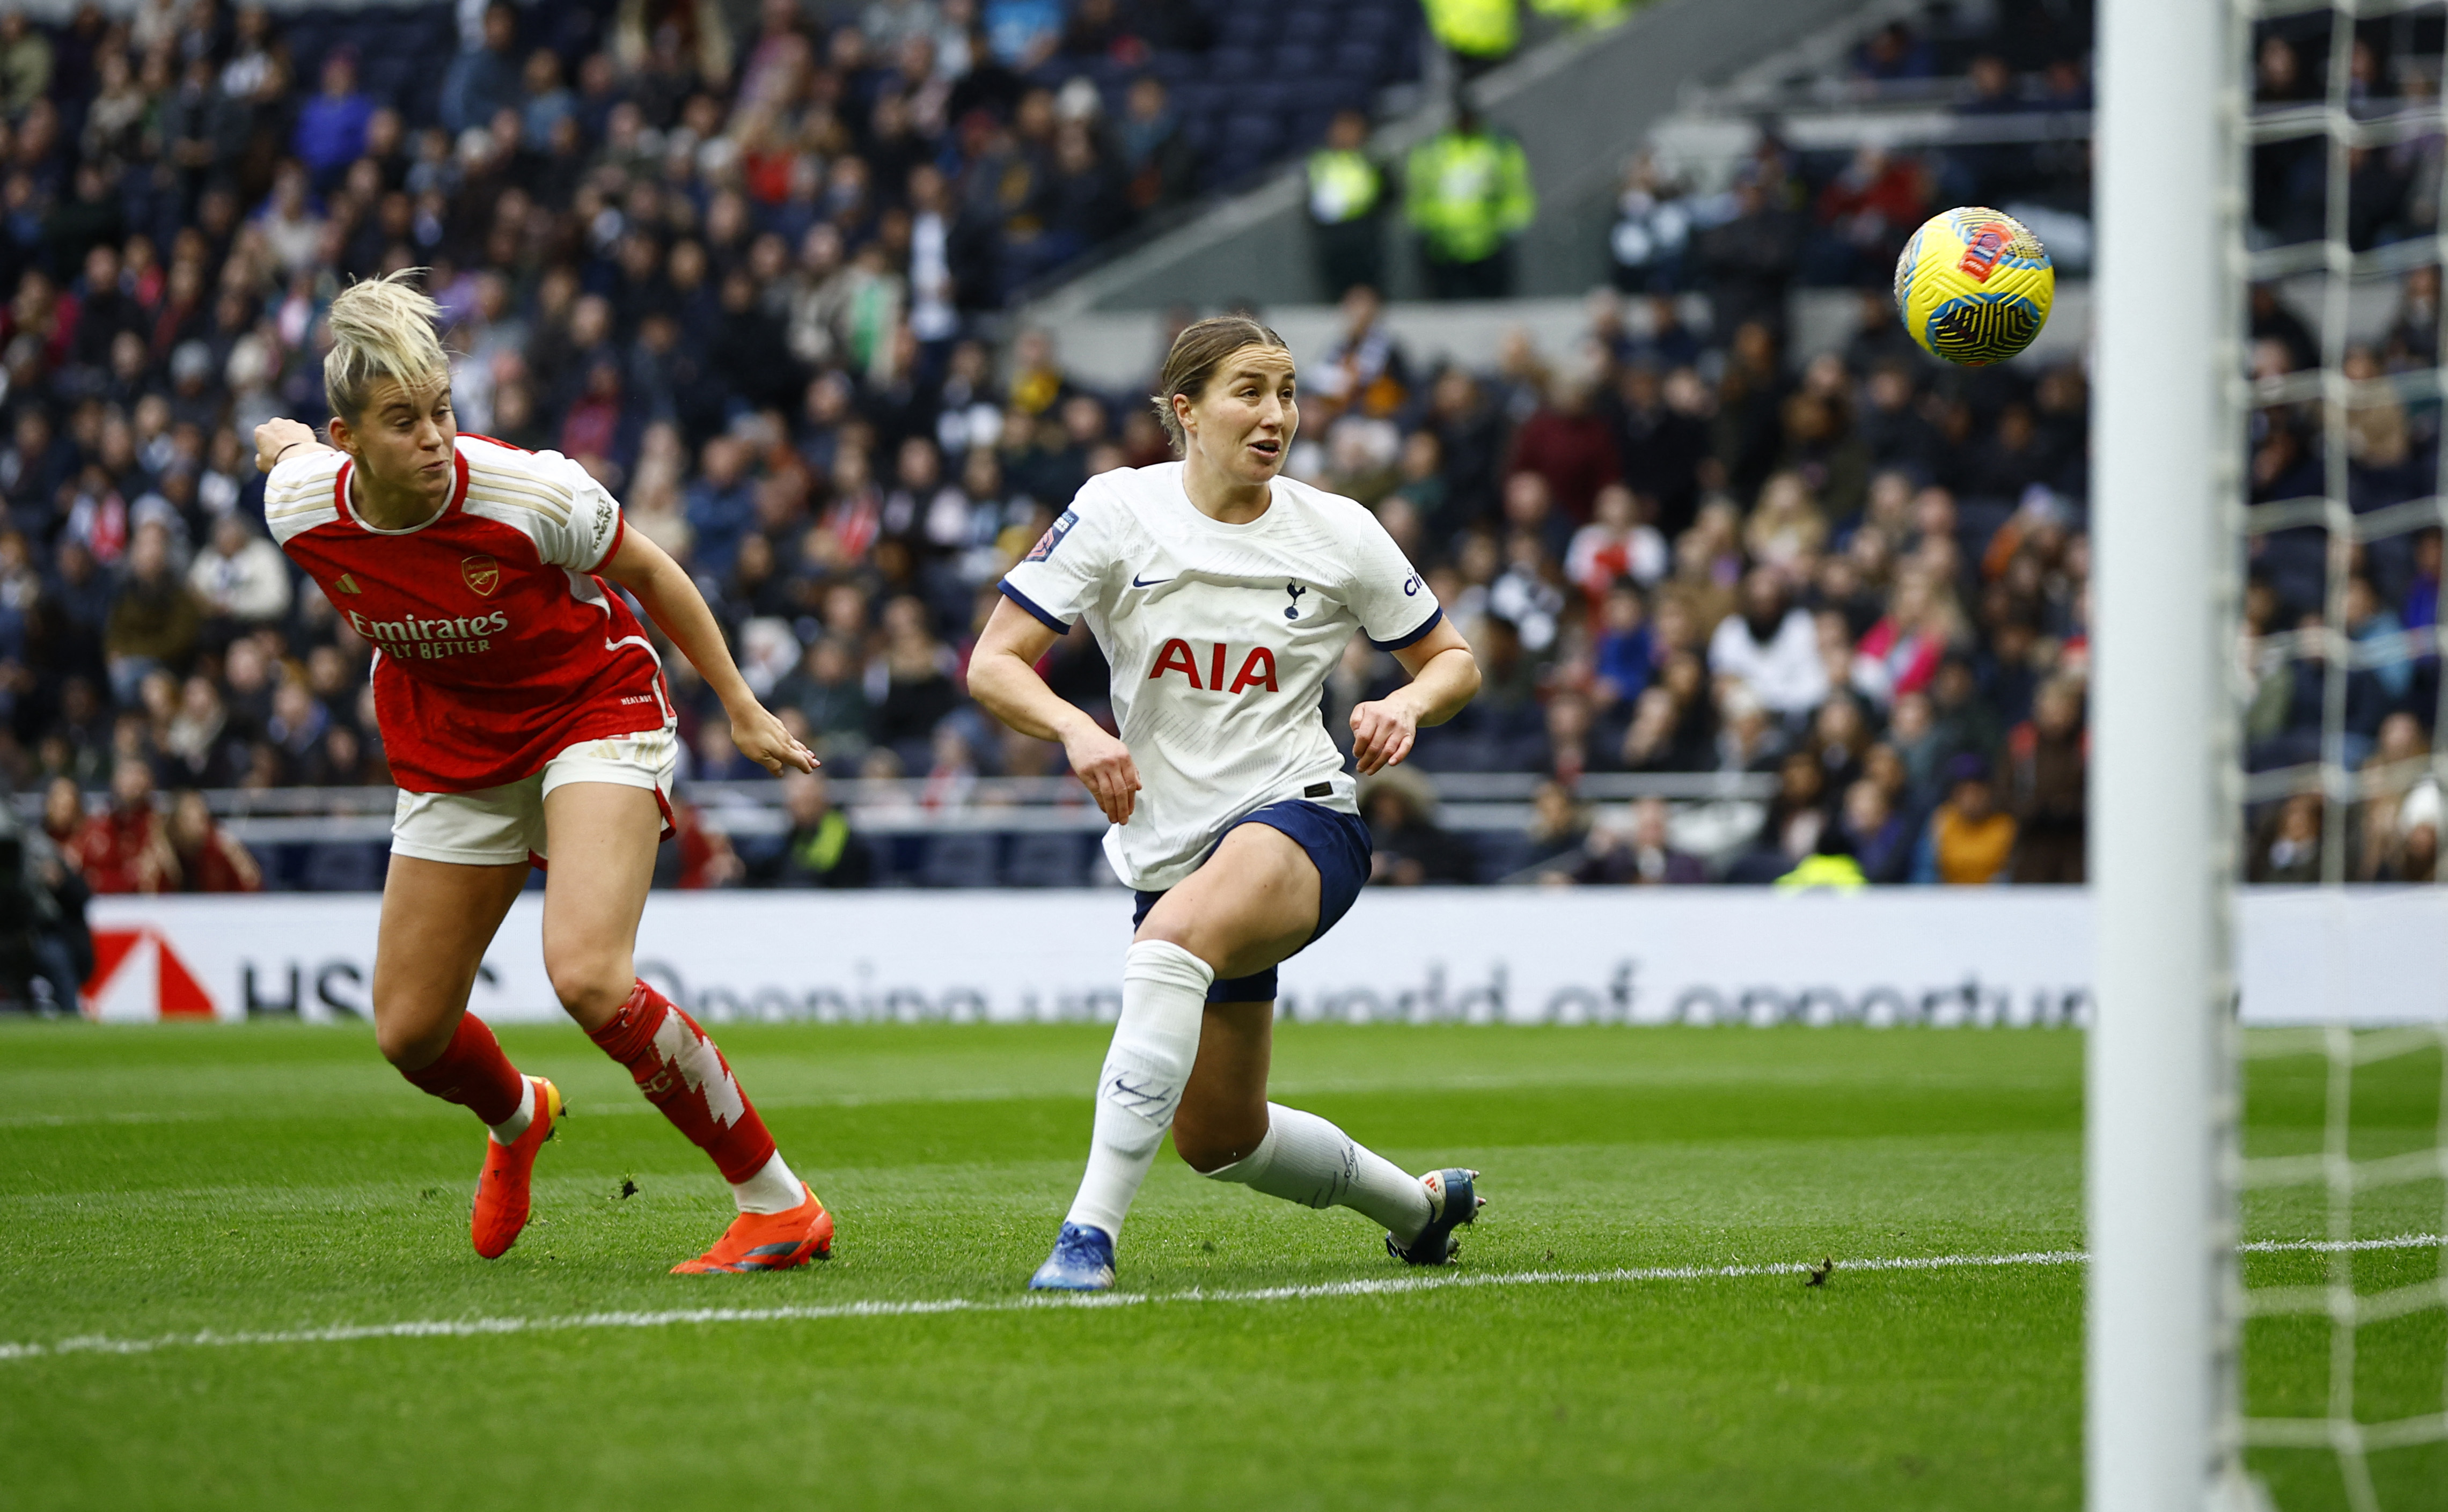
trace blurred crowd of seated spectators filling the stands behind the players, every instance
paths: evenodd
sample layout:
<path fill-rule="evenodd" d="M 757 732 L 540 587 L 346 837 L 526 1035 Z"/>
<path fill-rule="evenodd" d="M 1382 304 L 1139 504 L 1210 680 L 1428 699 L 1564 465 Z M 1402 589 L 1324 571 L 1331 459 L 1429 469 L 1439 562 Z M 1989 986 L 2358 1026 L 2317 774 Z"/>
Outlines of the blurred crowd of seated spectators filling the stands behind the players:
<path fill-rule="evenodd" d="M 264 10 L 0 15 L 0 778 L 44 793 L 29 866 L 95 891 L 257 886 L 193 790 L 387 783 L 367 646 L 264 538 L 247 435 L 323 413 L 321 311 L 397 267 L 433 269 L 460 428 L 595 472 L 830 773 L 923 778 L 930 805 L 1060 776 L 1055 746 L 965 700 L 962 656 L 1084 477 L 1168 453 L 1138 391 L 1075 379 L 1053 333 L 994 311 L 1195 193 L 1163 78 L 1129 66 L 1197 44 L 1148 34 L 1190 7 L 774 0 L 737 49 L 698 24 L 712 10 L 629 0 L 573 44 L 531 32 L 580 7 L 494 5 L 431 117 L 367 98 L 345 49 L 291 88 Z M 1018 56 L 987 32 L 1013 10 L 1036 17 Z M 1924 51 L 1890 27 L 1851 66 Z M 2012 56 L 1978 54 L 1966 88 L 2086 88 L 2081 46 Z M 1119 108 L 1070 83 L 1080 59 Z M 1425 367 L 1366 284 L 1344 294 L 1293 472 L 1378 511 L 1486 673 L 1412 766 L 1547 778 L 1501 861 L 1437 825 L 1422 776 L 1371 783 L 1383 881 L 2081 881 L 2083 369 L 1927 360 L 1883 259 L 1941 186 L 2081 206 L 2083 174 L 1998 147 L 1812 161 L 1767 135 L 1731 213 L 1591 296 L 1562 352 L 1515 335 Z M 1657 188 L 1635 181 L 1650 206 Z M 1863 289 L 1838 350 L 1792 352 L 1797 279 Z M 2411 274 L 2401 335 L 2362 360 L 2428 365 L 2436 296 Z M 2257 362 L 2308 352 L 2277 291 L 2255 335 Z M 2318 418 L 2262 418 L 2260 497 L 2318 492 Z M 2357 411 L 2353 435 L 2355 477 L 2394 480 L 2375 502 L 2428 487 L 2436 409 Z M 2264 546 L 2255 629 L 2301 629 L 2318 570 Z M 2375 548 L 2355 582 L 2357 641 L 2428 626 L 2438 536 Z M 2318 746 L 2306 665 L 2255 661 L 2264 766 Z M 666 668 L 685 776 L 766 780 L 685 661 Z M 1329 729 L 1390 678 L 1354 641 Z M 1104 702 L 1084 634 L 1050 683 Z M 2419 766 L 2436 683 L 2414 653 L 2357 670 L 2350 756 Z M 1657 800 L 1594 817 L 1589 773 L 1765 773 L 1775 798 L 1696 856 Z M 2357 810 L 2355 873 L 2428 876 L 2438 795 L 2392 793 Z M 2304 802 L 2267 817 L 2257 876 L 2318 871 Z M 683 812 L 681 886 L 871 878 L 823 778 L 778 807 L 788 832 L 737 851 Z"/>

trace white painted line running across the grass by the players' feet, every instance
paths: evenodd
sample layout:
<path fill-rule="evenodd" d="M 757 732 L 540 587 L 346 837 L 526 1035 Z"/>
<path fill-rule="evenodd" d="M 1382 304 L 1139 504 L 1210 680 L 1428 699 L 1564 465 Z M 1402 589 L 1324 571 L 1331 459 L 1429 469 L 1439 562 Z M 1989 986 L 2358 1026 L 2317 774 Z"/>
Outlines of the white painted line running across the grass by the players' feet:
<path fill-rule="evenodd" d="M 2333 1240 L 2257 1240 L 2237 1245 L 2250 1253 L 2277 1250 L 2426 1250 L 2448 1245 L 2448 1236 L 2404 1233 L 2397 1238 Z M 1836 1270 L 1998 1270 L 2024 1265 L 2083 1265 L 2083 1250 L 2024 1250 L 2017 1255 L 1890 1255 L 1878 1260 L 1838 1260 Z M 583 1311 L 558 1319 L 409 1319 L 399 1324 L 333 1324 L 330 1329 L 277 1329 L 220 1333 L 162 1333 L 154 1338 L 108 1338 L 88 1333 L 54 1343 L 0 1343 L 0 1360 L 39 1360 L 54 1355 L 149 1355 L 166 1348 L 237 1348 L 259 1343 L 357 1343 L 367 1338 L 490 1338 L 497 1333 L 568 1333 L 578 1329 L 671 1329 L 676 1324 L 803 1324 L 823 1319 L 911 1319 L 930 1314 L 1043 1311 L 1080 1306 L 1151 1306 L 1175 1302 L 1312 1302 L 1332 1297 L 1386 1297 L 1400 1292 L 1444 1292 L 1454 1287 L 1589 1287 L 1608 1282 L 1704 1282 L 1763 1275 L 1804 1275 L 1807 1262 L 1777 1265 L 1640 1265 L 1618 1270 L 1510 1270 L 1498 1275 L 1420 1275 L 1361 1282 L 1319 1282 L 1310 1287 L 1253 1287 L 1234 1292 L 1106 1292 L 1092 1297 L 942 1297 L 933 1302 L 832 1302 L 815 1306 L 678 1306 L 663 1311 Z"/>

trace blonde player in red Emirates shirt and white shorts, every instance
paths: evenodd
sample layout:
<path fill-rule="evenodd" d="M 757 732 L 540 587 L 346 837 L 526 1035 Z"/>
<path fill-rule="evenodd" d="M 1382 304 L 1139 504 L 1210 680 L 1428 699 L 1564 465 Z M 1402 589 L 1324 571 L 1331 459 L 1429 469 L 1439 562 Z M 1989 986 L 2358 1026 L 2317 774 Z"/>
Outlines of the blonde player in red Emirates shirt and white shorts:
<path fill-rule="evenodd" d="M 561 1091 L 521 1077 L 468 1013 L 485 947 L 551 856 L 543 966 L 561 1006 L 732 1184 L 739 1216 L 678 1272 L 788 1270 L 832 1245 L 730 1064 L 636 979 L 632 949 L 676 763 L 661 663 L 627 602 L 705 675 L 764 766 L 815 758 L 749 695 L 688 575 L 558 453 L 460 435 L 438 316 L 414 274 L 345 289 L 323 360 L 330 445 L 255 431 L 264 521 L 375 646 L 375 717 L 399 783 L 375 949 L 375 1035 L 414 1086 L 487 1130 L 470 1238 L 497 1258 L 529 1216 Z"/>

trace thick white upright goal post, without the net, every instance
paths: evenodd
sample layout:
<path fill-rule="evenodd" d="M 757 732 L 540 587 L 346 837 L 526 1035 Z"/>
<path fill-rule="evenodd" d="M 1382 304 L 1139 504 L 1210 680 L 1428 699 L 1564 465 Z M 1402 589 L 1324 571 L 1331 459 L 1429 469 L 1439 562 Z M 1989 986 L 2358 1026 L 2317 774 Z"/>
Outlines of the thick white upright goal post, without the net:
<path fill-rule="evenodd" d="M 2093 1512 L 2235 1502 L 2242 215 L 2228 0 L 2100 0 L 2093 281 Z"/>

